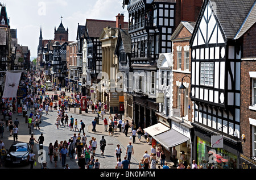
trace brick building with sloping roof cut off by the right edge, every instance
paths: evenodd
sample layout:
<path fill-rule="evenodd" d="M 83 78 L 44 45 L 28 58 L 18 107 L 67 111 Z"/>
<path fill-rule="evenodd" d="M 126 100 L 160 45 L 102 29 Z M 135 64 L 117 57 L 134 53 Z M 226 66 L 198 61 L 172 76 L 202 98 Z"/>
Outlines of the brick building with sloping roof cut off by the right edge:
<path fill-rule="evenodd" d="M 256 6 L 244 21 L 236 39 L 242 44 L 241 59 L 241 159 L 242 168 L 255 168 L 256 156 Z"/>

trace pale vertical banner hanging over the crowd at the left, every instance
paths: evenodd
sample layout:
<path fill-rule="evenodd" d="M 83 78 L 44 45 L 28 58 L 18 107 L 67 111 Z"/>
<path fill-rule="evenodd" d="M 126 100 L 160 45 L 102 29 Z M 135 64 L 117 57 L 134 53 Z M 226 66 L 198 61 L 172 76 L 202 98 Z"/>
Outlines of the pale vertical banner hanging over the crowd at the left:
<path fill-rule="evenodd" d="M 21 74 L 21 72 L 6 72 L 5 90 L 2 98 L 16 98 Z"/>

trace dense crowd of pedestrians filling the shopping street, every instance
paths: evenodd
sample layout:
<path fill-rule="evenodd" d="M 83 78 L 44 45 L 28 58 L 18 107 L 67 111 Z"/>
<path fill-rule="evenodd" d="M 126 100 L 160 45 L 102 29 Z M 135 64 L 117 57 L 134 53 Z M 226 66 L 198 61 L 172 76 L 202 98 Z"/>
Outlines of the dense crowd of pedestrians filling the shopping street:
<path fill-rule="evenodd" d="M 36 78 L 38 80 L 36 80 Z M 61 91 L 60 95 L 57 95 L 57 99 L 55 95 L 47 94 L 47 83 L 43 74 L 36 72 L 28 72 L 24 78 L 20 81 L 23 87 L 27 87 L 27 96 L 22 99 L 22 103 L 25 105 L 24 107 L 27 110 L 31 110 L 28 116 L 28 127 L 31 129 L 40 129 L 40 124 L 42 123 L 42 114 L 45 111 L 45 114 L 48 115 L 48 111 L 56 111 L 56 129 L 59 129 L 61 126 L 70 128 L 70 131 L 73 131 L 73 136 L 68 139 L 63 140 L 55 140 L 48 145 L 48 157 L 49 162 L 54 163 L 55 168 L 59 166 L 59 161 L 61 162 L 62 168 L 69 169 L 68 164 L 66 163 L 67 158 L 70 160 L 77 160 L 80 169 L 98 169 L 100 168 L 100 162 L 98 158 L 96 158 L 96 149 L 98 145 L 100 146 L 101 156 L 104 156 L 106 140 L 104 136 L 101 137 L 100 140 L 97 140 L 95 137 L 88 140 L 85 135 L 85 124 L 82 120 L 78 120 L 67 115 L 67 110 L 69 107 L 80 107 L 80 98 L 82 94 L 76 91 L 75 88 L 70 87 L 69 85 L 65 86 L 65 91 Z M 61 90 L 61 83 L 56 84 L 53 83 L 53 90 Z M 72 90 L 71 90 L 72 89 Z M 67 96 L 66 92 L 70 92 L 71 96 Z M 1 102 L 0 103 L 0 111 L 2 112 L 3 119 L 0 122 L 0 136 L 3 137 L 3 132 L 5 128 L 7 128 L 10 132 L 10 136 L 13 136 L 14 141 L 18 140 L 18 126 L 19 120 L 13 120 L 12 115 L 15 113 L 16 103 L 14 102 Z M 115 148 L 115 157 L 116 157 L 116 169 L 129 169 L 131 164 L 131 157 L 134 155 L 134 146 L 137 139 L 138 142 L 142 141 L 142 137 L 144 137 L 146 143 L 153 144 L 151 151 L 147 152 L 145 150 L 143 156 L 141 157 L 141 161 L 138 164 L 138 169 L 156 169 L 170 168 L 166 162 L 166 154 L 164 148 L 159 144 L 156 146 L 154 144 L 154 140 L 147 133 L 144 132 L 141 127 L 135 128 L 134 121 L 132 120 L 129 123 L 128 120 L 124 121 L 117 114 L 114 116 L 112 114 L 109 115 L 108 119 L 106 118 L 106 112 L 108 112 L 107 104 L 103 104 L 101 102 L 94 103 L 92 99 L 87 99 L 87 108 L 92 110 L 93 114 L 98 114 L 98 117 L 101 117 L 104 123 L 105 132 L 108 132 L 109 135 L 114 135 L 116 132 L 122 132 L 125 136 L 128 136 L 128 132 L 131 132 L 129 135 L 130 142 L 126 146 L 126 149 L 121 149 L 121 146 L 117 144 Z M 34 111 L 33 111 L 34 110 Z M 5 122 L 4 122 L 5 120 Z M 92 131 L 96 131 L 96 119 L 92 121 Z M 4 128 L 5 127 L 5 128 Z M 131 128 L 131 130 L 129 129 Z M 0 145 L 3 142 L 0 142 Z M 31 152 L 29 154 L 28 161 L 30 162 L 30 167 L 33 168 L 35 164 L 35 154 L 33 153 L 34 144 L 38 143 L 39 145 L 43 145 L 44 137 L 43 134 L 39 137 L 39 139 L 35 139 L 34 133 L 31 133 L 31 137 L 29 140 L 29 144 L 31 145 Z M 3 150 L 2 150 L 3 149 Z M 5 146 L 1 145 L 1 160 L 4 157 Z M 121 154 L 125 153 L 123 160 L 121 160 Z M 175 154 L 175 153 L 172 153 Z M 175 157 L 174 157 L 175 159 Z M 192 165 L 192 168 L 197 167 L 195 164 Z M 199 166 L 200 167 L 200 166 Z M 43 168 L 47 168 L 46 162 L 43 163 Z M 184 164 L 177 165 L 177 169 L 184 169 Z M 190 166 L 187 166 L 190 168 Z"/>

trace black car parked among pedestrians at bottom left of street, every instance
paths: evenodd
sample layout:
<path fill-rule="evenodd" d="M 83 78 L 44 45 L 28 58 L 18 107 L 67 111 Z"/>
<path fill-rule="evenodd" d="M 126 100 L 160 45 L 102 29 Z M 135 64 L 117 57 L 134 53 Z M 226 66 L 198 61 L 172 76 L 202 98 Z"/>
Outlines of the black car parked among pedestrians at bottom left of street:
<path fill-rule="evenodd" d="M 27 164 L 28 154 L 31 146 L 27 143 L 16 143 L 11 145 L 7 151 L 6 164 L 7 165 L 24 165 Z"/>

